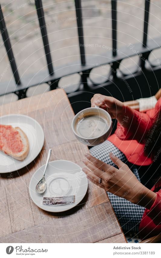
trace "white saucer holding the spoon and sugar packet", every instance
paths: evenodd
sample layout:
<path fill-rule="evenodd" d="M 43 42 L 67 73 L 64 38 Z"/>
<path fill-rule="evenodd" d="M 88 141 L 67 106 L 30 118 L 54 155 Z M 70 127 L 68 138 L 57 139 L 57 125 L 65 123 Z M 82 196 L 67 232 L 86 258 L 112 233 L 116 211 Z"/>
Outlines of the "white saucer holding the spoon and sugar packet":
<path fill-rule="evenodd" d="M 82 201 L 87 192 L 88 181 L 81 167 L 68 160 L 54 160 L 49 162 L 45 173 L 47 189 L 43 194 L 37 194 L 35 187 L 43 176 L 44 168 L 45 165 L 34 173 L 29 184 L 31 199 L 39 208 L 47 212 L 64 212 Z M 75 203 L 59 206 L 43 205 L 43 196 L 60 197 L 65 195 L 75 195 Z"/>

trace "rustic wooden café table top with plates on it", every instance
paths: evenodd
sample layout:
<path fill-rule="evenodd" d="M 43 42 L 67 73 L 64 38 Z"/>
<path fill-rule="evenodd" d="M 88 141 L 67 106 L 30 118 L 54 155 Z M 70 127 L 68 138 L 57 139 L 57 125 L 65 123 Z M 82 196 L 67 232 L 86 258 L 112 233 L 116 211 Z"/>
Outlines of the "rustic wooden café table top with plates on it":
<path fill-rule="evenodd" d="M 29 182 L 38 167 L 52 160 L 71 160 L 83 166 L 87 146 L 71 130 L 74 112 L 65 91 L 57 89 L 0 107 L 0 114 L 25 114 L 36 119 L 45 133 L 43 149 L 21 170 L 1 174 L 1 243 L 126 243 L 107 194 L 89 182 L 82 202 L 63 213 L 45 212 L 29 196 Z"/>

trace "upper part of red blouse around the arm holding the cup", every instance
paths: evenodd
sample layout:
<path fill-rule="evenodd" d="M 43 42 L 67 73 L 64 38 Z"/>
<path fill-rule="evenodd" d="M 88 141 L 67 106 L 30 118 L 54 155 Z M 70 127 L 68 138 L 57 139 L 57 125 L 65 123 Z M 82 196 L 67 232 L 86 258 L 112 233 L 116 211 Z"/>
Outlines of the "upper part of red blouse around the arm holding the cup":
<path fill-rule="evenodd" d="M 125 129 L 118 123 L 116 131 L 108 138 L 111 143 L 125 154 L 129 162 L 139 166 L 153 163 L 151 158 L 144 156 L 145 146 L 143 139 L 153 123 L 154 115 L 160 108 L 161 98 L 157 101 L 155 108 L 148 110 L 146 113 L 135 110 L 130 129 Z"/>

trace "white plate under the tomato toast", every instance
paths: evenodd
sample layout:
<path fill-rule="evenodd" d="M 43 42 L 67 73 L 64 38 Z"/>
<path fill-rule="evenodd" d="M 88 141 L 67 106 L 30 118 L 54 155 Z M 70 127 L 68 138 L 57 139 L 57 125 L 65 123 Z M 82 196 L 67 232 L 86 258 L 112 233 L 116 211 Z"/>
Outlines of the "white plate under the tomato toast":
<path fill-rule="evenodd" d="M 27 166 L 40 153 L 44 143 L 44 133 L 40 124 L 27 115 L 4 115 L 0 118 L 0 124 L 19 126 L 27 135 L 29 141 L 29 153 L 23 161 L 15 160 L 0 151 L 0 173 L 8 173 Z"/>

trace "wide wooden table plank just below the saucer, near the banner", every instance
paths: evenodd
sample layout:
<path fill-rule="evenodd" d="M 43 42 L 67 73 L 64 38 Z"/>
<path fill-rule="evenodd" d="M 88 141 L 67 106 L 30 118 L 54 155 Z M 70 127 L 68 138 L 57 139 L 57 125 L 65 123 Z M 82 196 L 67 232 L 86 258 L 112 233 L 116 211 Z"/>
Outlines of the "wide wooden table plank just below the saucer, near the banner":
<path fill-rule="evenodd" d="M 93 243 L 122 233 L 110 203 L 16 232 L 1 243 Z"/>

